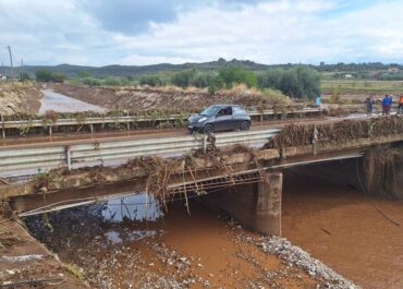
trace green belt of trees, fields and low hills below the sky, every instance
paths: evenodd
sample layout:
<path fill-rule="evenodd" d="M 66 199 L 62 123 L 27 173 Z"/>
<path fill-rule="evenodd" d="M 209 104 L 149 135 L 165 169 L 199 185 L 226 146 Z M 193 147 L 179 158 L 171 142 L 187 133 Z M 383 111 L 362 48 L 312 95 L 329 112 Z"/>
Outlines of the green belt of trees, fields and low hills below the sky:
<path fill-rule="evenodd" d="M 8 71 L 7 67 L 0 68 L 0 73 L 8 74 Z M 19 73 L 19 68 L 15 68 L 15 72 Z M 22 81 L 35 74 L 39 82 L 66 81 L 89 86 L 175 85 L 207 88 L 211 94 L 245 84 L 249 88 L 281 91 L 293 98 L 313 98 L 320 92 L 330 95 L 401 94 L 403 91 L 403 65 L 378 62 L 265 65 L 253 61 L 219 59 L 205 63 L 146 67 L 25 67 L 22 72 Z"/>

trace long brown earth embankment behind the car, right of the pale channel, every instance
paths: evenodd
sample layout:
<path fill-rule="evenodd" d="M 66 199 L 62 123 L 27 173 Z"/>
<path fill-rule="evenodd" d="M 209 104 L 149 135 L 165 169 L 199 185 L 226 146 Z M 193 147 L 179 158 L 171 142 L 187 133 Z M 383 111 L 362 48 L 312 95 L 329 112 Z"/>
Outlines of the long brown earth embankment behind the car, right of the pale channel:
<path fill-rule="evenodd" d="M 151 87 L 88 87 L 69 84 L 54 84 L 57 93 L 77 98 L 88 104 L 102 106 L 108 109 L 160 109 L 174 108 L 199 110 L 203 107 L 231 103 L 244 106 L 265 106 L 278 100 L 267 99 L 260 93 L 243 86 L 227 93 L 213 95 L 206 89 L 182 89 L 167 86 Z"/>

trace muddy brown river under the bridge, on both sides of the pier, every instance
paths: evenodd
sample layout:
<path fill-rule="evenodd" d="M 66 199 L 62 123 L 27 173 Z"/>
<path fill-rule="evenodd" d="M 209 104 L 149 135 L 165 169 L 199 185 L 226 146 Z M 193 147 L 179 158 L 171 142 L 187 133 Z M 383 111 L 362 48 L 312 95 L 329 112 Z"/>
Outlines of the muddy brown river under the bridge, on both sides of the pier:
<path fill-rule="evenodd" d="M 283 234 L 363 288 L 403 288 L 403 230 L 373 204 L 403 224 L 401 202 L 368 198 L 349 186 L 288 172 Z M 245 241 L 259 240 L 258 234 L 195 200 L 190 210 L 183 200 L 166 212 L 155 200 L 138 195 L 50 214 L 45 224 L 51 234 L 39 233 L 38 220 L 28 221 L 34 234 L 62 261 L 85 268 L 85 279 L 97 288 L 318 285 Z"/>

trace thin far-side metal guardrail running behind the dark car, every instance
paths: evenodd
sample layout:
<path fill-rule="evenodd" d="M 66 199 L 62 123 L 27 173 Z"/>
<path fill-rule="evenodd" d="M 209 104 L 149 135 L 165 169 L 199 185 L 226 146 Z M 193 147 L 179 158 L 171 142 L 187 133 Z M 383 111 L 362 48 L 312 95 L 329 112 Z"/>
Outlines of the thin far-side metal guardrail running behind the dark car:
<path fill-rule="evenodd" d="M 288 111 L 288 116 L 300 116 L 303 117 L 305 113 L 321 113 L 322 109 L 320 108 L 303 108 L 301 110 L 295 111 Z M 265 110 L 265 111 L 249 111 L 248 112 L 254 120 L 262 121 L 265 117 L 276 116 L 276 115 L 283 115 L 281 112 L 274 110 Z M 136 117 L 136 116 L 124 116 L 124 117 L 97 117 L 97 118 L 87 118 L 85 120 L 76 120 L 76 119 L 58 119 L 57 122 L 44 122 L 41 119 L 35 120 L 14 120 L 14 121 L 5 121 L 3 118 L 1 120 L 1 131 L 2 137 L 5 137 L 7 130 L 19 130 L 19 129 L 26 129 L 26 128 L 42 128 L 48 129 L 49 133 L 52 133 L 52 128 L 58 127 L 81 127 L 81 125 L 89 125 L 90 130 L 94 131 L 94 125 L 96 124 L 126 124 L 126 129 L 131 129 L 131 124 L 135 123 L 145 123 L 145 122 L 167 122 L 167 121 L 175 121 L 182 120 L 185 121 L 187 117 L 181 115 L 172 115 L 169 117 Z"/>

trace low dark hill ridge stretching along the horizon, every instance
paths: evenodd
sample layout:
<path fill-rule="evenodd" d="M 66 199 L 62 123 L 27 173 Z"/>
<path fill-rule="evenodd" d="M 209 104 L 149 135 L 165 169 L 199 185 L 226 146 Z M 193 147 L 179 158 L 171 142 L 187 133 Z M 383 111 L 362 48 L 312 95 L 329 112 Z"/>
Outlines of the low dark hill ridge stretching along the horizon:
<path fill-rule="evenodd" d="M 217 70 L 221 67 L 241 67 L 252 71 L 264 71 L 276 68 L 291 68 L 301 64 L 260 64 L 251 60 L 233 59 L 227 61 L 220 58 L 217 61 L 203 62 L 203 63 L 183 63 L 170 64 L 160 63 L 152 65 L 106 65 L 106 67 L 82 67 L 71 64 L 59 65 L 24 65 L 14 68 L 14 75 L 20 75 L 21 72 L 27 72 L 34 75 L 39 69 L 50 70 L 52 72 L 60 72 L 66 76 L 74 77 L 81 71 L 86 71 L 93 76 L 138 76 L 141 74 L 152 74 L 166 71 L 181 71 L 186 69 L 197 70 Z M 337 63 L 326 64 L 321 62 L 319 65 L 307 64 L 329 79 L 343 79 L 345 74 L 352 74 L 354 79 L 374 79 L 374 80 L 403 80 L 403 65 L 391 63 L 383 64 L 380 62 L 368 63 Z M 1 67 L 0 74 L 9 75 L 10 68 Z"/>

